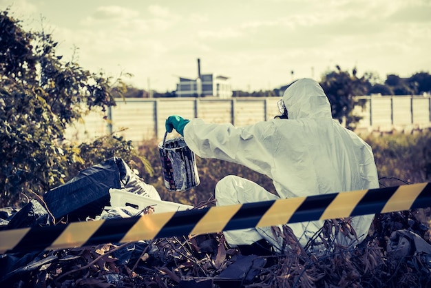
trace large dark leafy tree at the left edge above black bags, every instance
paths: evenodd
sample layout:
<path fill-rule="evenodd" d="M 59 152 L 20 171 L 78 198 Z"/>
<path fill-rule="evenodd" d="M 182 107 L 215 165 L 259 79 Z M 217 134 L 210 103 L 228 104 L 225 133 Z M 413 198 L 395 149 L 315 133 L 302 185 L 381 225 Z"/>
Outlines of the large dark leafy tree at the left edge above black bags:
<path fill-rule="evenodd" d="M 125 161 L 138 157 L 131 143 L 119 137 L 79 146 L 65 143 L 67 125 L 94 107 L 105 111 L 115 105 L 112 82 L 120 92 L 125 85 L 102 72 L 90 73 L 73 59 L 61 61 L 56 45 L 50 34 L 25 32 L 8 10 L 0 13 L 1 206 L 17 204 L 21 194 L 43 194 L 79 169 L 105 160 L 109 152 L 101 149 L 103 145 L 120 151 L 124 147 L 127 153 L 116 156 Z M 83 151 L 91 157 L 81 157 Z M 116 153 L 109 151 L 110 156 Z"/>

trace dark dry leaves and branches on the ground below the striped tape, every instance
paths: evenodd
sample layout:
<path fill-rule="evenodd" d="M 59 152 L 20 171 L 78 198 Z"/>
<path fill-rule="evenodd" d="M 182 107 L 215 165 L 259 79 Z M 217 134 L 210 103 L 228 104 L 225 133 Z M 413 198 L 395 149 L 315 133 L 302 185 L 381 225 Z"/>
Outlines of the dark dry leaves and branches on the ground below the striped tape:
<path fill-rule="evenodd" d="M 416 222 L 414 217 L 410 220 Z M 339 224 L 327 221 L 328 229 L 316 238 L 328 239 L 326 233 L 334 231 L 333 225 Z M 367 238 L 355 249 L 326 242 L 328 249 L 320 255 L 299 247 L 288 227 L 284 228 L 275 231 L 291 247 L 282 255 L 244 256 L 229 247 L 222 234 L 5 254 L 0 258 L 0 282 L 7 287 L 199 288 L 431 284 L 431 246 L 409 227 L 392 232 L 386 247 L 380 247 L 377 237 Z"/>

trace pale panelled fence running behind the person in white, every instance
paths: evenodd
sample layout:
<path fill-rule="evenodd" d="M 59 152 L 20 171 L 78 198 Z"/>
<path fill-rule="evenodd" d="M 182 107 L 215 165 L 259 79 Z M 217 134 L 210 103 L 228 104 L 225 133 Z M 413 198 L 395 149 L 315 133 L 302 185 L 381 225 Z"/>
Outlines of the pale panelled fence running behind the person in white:
<path fill-rule="evenodd" d="M 118 99 L 116 107 L 103 120 L 101 111 L 93 111 L 82 123 L 66 130 L 71 141 L 92 141 L 110 132 L 128 140 L 161 139 L 165 134 L 165 119 L 178 114 L 186 119 L 200 118 L 210 123 L 250 125 L 272 119 L 278 113 L 280 97 L 247 97 L 234 99 L 175 98 L 175 99 Z M 372 131 L 413 130 L 431 127 L 430 96 L 358 96 L 366 105 L 355 107 L 354 113 L 363 119 L 358 133 Z"/>

